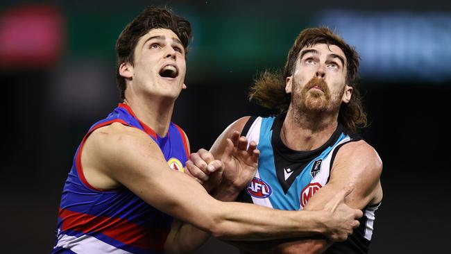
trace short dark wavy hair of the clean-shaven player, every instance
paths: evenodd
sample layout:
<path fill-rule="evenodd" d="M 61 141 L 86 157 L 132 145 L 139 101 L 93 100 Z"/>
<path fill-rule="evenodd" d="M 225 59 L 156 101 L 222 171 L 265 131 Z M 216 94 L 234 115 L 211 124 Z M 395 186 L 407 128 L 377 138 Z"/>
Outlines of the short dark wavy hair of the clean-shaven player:
<path fill-rule="evenodd" d="M 116 81 L 121 99 L 125 99 L 127 84 L 125 78 L 119 74 L 119 67 L 123 62 L 133 65 L 134 51 L 139 38 L 155 28 L 172 30 L 182 42 L 185 57 L 187 56 L 189 41 L 192 40 L 191 24 L 187 19 L 175 15 L 167 8 L 146 7 L 124 28 L 116 42 Z"/>

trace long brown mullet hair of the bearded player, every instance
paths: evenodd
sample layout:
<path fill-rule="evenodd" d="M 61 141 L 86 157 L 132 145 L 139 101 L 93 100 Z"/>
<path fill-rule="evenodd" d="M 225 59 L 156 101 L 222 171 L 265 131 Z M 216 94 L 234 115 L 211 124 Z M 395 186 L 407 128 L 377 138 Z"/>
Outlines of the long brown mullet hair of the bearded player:
<path fill-rule="evenodd" d="M 291 95 L 285 92 L 285 80 L 293 74 L 300 50 L 305 46 L 313 46 L 319 43 L 339 46 L 346 56 L 348 70 L 346 85 L 353 89 L 349 103 L 341 103 L 339 122 L 352 131 L 356 131 L 358 127 L 365 127 L 367 123 L 366 112 L 355 83 L 359 68 L 359 54 L 327 27 L 307 28 L 301 31 L 289 50 L 283 73 L 266 70 L 259 74 L 254 85 L 250 87 L 249 100 L 265 108 L 287 112 L 291 103 Z"/>

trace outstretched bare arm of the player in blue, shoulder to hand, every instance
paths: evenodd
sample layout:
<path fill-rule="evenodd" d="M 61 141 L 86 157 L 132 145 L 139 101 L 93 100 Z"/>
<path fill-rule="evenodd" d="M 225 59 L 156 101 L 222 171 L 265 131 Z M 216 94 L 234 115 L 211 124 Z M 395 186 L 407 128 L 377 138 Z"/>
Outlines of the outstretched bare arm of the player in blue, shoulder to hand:
<path fill-rule="evenodd" d="M 344 239 L 357 226 L 355 218 L 362 216 L 359 210 L 339 216 L 334 211 L 284 212 L 216 201 L 196 180 L 169 169 L 146 133 L 120 124 L 94 131 L 85 143 L 83 154 L 88 153 L 84 159 L 82 155 L 88 181 L 92 171 L 99 172 L 108 185 L 124 185 L 155 208 L 223 239 L 275 239 L 317 233 Z M 99 189 L 110 187 L 92 184 Z M 189 193 L 189 198 L 180 193 Z"/>

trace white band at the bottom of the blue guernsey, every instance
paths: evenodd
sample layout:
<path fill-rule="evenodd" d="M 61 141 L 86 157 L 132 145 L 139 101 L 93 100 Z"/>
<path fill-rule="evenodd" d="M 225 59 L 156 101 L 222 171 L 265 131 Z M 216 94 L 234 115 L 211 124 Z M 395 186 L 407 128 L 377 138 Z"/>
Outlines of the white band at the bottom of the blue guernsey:
<path fill-rule="evenodd" d="M 92 254 L 92 253 L 112 253 L 112 254 L 132 254 L 120 248 L 116 248 L 110 244 L 102 242 L 96 237 L 90 235 L 82 235 L 74 237 L 71 235 L 60 235 L 58 243 L 55 247 L 67 248 L 78 254 Z"/>

